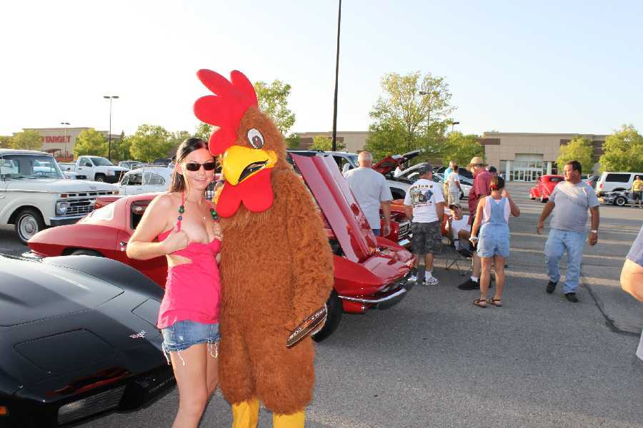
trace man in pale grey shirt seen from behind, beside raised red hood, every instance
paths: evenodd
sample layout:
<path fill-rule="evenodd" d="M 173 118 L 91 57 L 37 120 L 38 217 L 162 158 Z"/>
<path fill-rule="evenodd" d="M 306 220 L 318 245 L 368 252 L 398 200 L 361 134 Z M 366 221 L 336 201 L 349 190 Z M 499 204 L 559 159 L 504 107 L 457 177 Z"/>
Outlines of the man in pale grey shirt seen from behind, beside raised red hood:
<path fill-rule="evenodd" d="M 359 208 L 362 208 L 373 233 L 377 236 L 381 228 L 379 208 L 382 208 L 384 213 L 382 236 L 387 236 L 391 233 L 391 201 L 393 200 L 391 189 L 384 175 L 373 169 L 373 155 L 370 152 L 360 152 L 357 163 L 359 168 L 349 170 L 344 173 L 344 177 L 357 198 Z"/>

